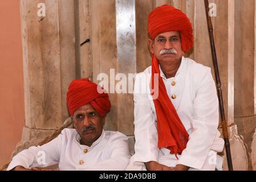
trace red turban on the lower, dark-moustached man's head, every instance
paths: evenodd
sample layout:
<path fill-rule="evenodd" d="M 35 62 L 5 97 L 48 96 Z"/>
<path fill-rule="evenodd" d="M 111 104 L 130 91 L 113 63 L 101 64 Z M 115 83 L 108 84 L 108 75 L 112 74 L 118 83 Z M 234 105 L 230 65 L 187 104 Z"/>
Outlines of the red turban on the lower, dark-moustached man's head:
<path fill-rule="evenodd" d="M 67 107 L 70 114 L 74 115 L 79 107 L 91 104 L 97 113 L 104 117 L 109 112 L 111 103 L 107 93 L 97 92 L 98 87 L 99 85 L 91 82 L 88 78 L 73 80 L 67 92 Z"/>

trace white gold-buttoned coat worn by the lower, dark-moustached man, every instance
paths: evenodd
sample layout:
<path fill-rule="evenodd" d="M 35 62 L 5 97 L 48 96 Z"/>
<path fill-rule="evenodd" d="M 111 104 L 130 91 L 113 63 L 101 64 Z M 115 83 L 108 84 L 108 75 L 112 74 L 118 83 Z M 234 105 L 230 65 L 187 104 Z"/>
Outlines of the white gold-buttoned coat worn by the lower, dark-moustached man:
<path fill-rule="evenodd" d="M 14 156 L 7 170 L 16 166 L 47 167 L 59 163 L 60 170 L 124 170 L 131 157 L 128 138 L 118 131 L 104 131 L 91 147 L 79 143 L 75 129 L 62 133 L 43 146 L 30 147 Z M 84 149 L 85 152 L 84 152 Z M 45 164 L 42 160 L 45 154 Z"/>

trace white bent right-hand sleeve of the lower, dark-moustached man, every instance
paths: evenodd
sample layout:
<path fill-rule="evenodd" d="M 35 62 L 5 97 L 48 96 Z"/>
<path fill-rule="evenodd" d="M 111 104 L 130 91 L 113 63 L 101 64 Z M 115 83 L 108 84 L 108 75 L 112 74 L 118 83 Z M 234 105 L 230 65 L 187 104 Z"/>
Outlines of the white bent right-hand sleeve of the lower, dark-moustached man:
<path fill-rule="evenodd" d="M 123 134 L 115 134 L 108 143 L 110 158 L 84 168 L 85 171 L 124 171 L 129 164 L 128 138 Z"/>

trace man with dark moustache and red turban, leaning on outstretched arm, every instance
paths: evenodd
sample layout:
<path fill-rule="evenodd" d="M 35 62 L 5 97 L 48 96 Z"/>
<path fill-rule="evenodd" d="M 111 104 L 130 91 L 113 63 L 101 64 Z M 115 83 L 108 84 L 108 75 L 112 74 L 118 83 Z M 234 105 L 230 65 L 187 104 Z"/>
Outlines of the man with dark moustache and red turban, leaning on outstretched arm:
<path fill-rule="evenodd" d="M 102 92 L 103 91 L 103 92 Z M 43 146 L 30 147 L 14 156 L 7 170 L 124 170 L 129 164 L 128 138 L 117 131 L 104 131 L 111 108 L 108 94 L 86 79 L 71 82 L 67 107 L 75 129 L 64 129 Z"/>

